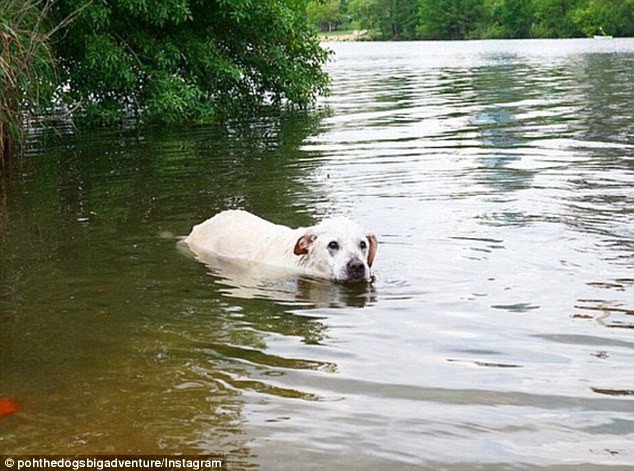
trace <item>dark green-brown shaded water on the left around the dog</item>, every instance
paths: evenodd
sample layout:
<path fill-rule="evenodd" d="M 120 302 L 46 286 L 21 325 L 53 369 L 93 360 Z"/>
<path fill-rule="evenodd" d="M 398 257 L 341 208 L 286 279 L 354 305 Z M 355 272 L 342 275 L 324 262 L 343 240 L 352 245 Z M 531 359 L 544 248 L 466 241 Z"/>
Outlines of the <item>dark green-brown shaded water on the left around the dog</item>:
<path fill-rule="evenodd" d="M 363 304 L 365 294 L 295 280 L 281 304 L 261 299 L 275 298 L 275 286 L 260 280 L 255 299 L 229 297 L 230 287 L 157 234 L 184 234 L 236 206 L 312 222 L 298 208 L 296 177 L 300 144 L 318 123 L 282 114 L 225 129 L 85 132 L 31 149 L 0 208 L 0 302 L 12 313 L 0 318 L 11 327 L 0 329 L 0 393 L 19 390 L 34 420 L 3 430 L 8 446 L 231 451 L 248 463 L 248 397 L 316 399 L 275 378 L 336 365 L 271 352 L 270 339 L 318 345 L 326 324 L 289 310 Z M 42 421 L 50 426 L 32 425 Z"/>

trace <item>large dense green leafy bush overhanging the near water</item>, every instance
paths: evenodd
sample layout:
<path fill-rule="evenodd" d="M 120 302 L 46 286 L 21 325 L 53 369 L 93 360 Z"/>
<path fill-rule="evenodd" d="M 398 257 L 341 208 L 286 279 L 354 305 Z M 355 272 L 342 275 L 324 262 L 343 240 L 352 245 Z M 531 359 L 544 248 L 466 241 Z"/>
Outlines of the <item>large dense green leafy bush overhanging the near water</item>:
<path fill-rule="evenodd" d="M 58 0 L 78 11 L 53 42 L 64 87 L 91 123 L 210 122 L 262 103 L 306 105 L 327 59 L 306 0 Z"/>

